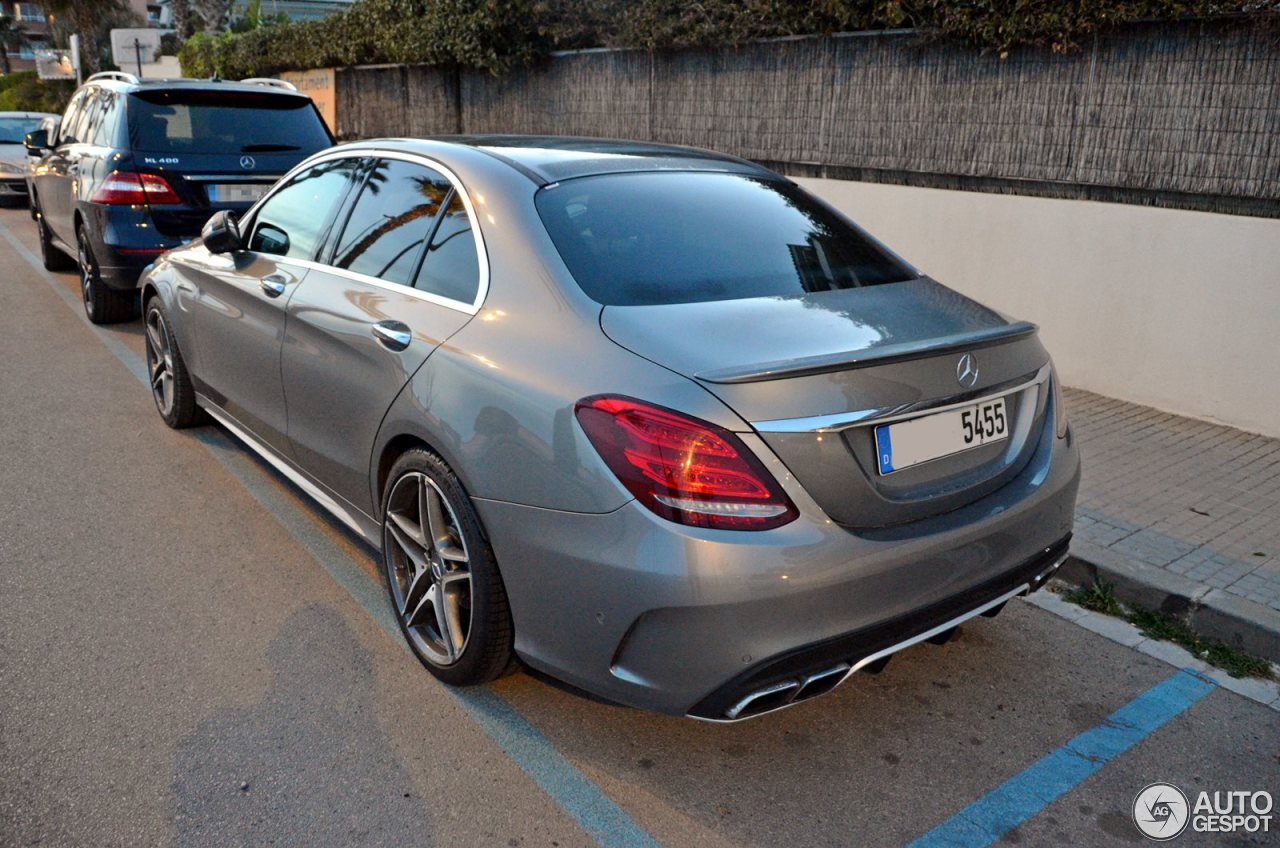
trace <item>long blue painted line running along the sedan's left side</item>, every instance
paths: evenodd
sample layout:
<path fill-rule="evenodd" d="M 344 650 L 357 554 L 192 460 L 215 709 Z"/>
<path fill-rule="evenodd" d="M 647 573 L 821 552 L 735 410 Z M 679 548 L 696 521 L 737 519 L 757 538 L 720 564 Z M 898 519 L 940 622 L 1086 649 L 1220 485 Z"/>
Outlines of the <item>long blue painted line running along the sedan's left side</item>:
<path fill-rule="evenodd" d="M 99 329 L 84 316 L 79 300 L 44 269 L 42 263 L 19 242 L 4 224 L 0 236 L 36 269 L 54 292 L 73 309 L 93 334 L 145 387 L 146 364 L 113 333 Z M 298 509 L 255 460 L 228 438 L 220 428 L 193 433 L 196 439 L 234 477 L 248 493 L 347 591 L 365 612 L 392 639 L 412 656 L 412 651 L 392 616 L 387 592 L 340 546 L 324 533 L 316 519 Z M 426 671 L 422 673 L 424 675 Z M 520 769 L 561 806 L 603 848 L 658 848 L 659 843 L 631 819 L 604 790 L 570 762 L 547 737 L 538 731 L 500 694 L 489 687 L 453 689 L 443 687 Z"/>

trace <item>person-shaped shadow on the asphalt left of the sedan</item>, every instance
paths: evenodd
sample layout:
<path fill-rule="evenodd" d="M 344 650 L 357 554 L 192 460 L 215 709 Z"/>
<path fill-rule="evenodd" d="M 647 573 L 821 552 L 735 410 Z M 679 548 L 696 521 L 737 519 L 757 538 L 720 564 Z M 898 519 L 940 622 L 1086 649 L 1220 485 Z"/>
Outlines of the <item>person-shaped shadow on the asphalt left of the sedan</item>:
<path fill-rule="evenodd" d="M 374 658 L 347 623 L 300 610 L 266 657 L 266 697 L 218 710 L 178 751 L 178 844 L 430 844 L 428 812 L 374 717 Z"/>

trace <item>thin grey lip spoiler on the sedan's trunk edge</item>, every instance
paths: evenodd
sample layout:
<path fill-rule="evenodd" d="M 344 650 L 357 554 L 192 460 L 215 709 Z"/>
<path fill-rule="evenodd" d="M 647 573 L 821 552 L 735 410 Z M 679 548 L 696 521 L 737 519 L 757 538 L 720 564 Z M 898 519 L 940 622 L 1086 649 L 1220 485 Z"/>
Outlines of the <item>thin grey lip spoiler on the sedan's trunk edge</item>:
<path fill-rule="evenodd" d="M 989 329 L 945 336 L 928 342 L 904 342 L 900 345 L 886 345 L 859 351 L 842 351 L 838 354 L 822 354 L 819 356 L 805 356 L 801 359 L 780 360 L 751 365 L 749 368 L 722 368 L 712 371 L 699 371 L 695 379 L 705 383 L 762 383 L 765 380 L 788 379 L 794 377 L 810 377 L 813 374 L 827 374 L 829 371 L 845 371 L 870 365 L 888 365 L 890 363 L 905 363 L 913 359 L 937 356 L 948 351 L 979 350 L 992 345 L 1012 341 L 1025 336 L 1033 336 L 1039 328 L 1030 322 L 1014 322 Z"/>

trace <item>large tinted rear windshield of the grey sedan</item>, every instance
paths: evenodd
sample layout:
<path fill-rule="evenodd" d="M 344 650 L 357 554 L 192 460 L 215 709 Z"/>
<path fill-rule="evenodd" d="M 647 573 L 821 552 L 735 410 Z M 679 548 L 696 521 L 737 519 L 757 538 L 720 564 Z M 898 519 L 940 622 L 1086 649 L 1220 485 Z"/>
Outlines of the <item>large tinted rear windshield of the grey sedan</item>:
<path fill-rule="evenodd" d="M 609 174 L 545 188 L 536 204 L 570 273 L 605 305 L 776 297 L 915 277 L 781 179 Z"/>

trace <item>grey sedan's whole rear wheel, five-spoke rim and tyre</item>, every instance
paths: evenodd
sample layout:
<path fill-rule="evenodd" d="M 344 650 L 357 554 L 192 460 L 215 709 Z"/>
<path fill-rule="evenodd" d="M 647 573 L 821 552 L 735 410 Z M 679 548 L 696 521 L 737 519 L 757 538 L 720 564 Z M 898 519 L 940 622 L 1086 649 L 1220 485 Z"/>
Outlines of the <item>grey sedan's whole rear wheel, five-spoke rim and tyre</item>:
<path fill-rule="evenodd" d="M 493 550 L 471 498 L 434 453 L 407 451 L 388 475 L 383 565 L 401 630 L 431 674 L 474 685 L 515 666 Z"/>

